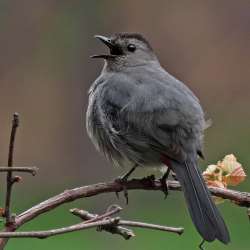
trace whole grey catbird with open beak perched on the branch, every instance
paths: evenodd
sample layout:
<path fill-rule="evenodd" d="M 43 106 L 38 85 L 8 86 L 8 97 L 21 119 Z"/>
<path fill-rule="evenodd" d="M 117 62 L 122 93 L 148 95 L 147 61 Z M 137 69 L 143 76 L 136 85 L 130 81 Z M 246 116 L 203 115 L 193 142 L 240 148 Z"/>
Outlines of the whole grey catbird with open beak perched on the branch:
<path fill-rule="evenodd" d="M 228 243 L 227 227 L 197 167 L 205 128 L 198 98 L 161 67 L 142 35 L 96 38 L 110 49 L 93 56 L 105 59 L 87 110 L 87 131 L 96 148 L 114 164 L 131 166 L 129 173 L 135 166 L 167 165 L 203 239 Z"/>

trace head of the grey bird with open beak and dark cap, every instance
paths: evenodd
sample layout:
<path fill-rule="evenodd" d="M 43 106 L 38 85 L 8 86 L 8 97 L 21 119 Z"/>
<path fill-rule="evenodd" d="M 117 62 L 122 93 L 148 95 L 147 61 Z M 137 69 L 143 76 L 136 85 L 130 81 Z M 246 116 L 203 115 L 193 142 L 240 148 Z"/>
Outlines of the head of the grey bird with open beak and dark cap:
<path fill-rule="evenodd" d="M 110 66 L 133 67 L 157 61 L 148 41 L 138 33 L 117 33 L 111 37 L 96 35 L 108 48 L 108 54 L 94 55 L 103 58 Z"/>

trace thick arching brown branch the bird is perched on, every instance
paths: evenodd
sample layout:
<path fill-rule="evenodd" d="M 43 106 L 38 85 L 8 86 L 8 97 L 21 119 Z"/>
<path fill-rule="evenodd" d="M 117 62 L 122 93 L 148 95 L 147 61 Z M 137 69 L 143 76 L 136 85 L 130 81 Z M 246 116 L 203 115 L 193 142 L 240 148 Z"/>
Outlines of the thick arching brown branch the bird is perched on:
<path fill-rule="evenodd" d="M 36 218 L 40 214 L 46 213 L 61 204 L 74 201 L 79 198 L 91 197 L 102 193 L 120 192 L 126 185 L 127 190 L 162 190 L 162 184 L 153 178 L 132 179 L 127 183 L 120 184 L 119 182 L 112 181 L 107 183 L 98 183 L 89 186 L 78 187 L 51 197 L 50 199 L 39 203 L 38 205 L 28 209 L 27 211 L 19 214 L 15 218 L 13 225 L 5 227 L 5 232 L 14 232 L 17 228 L 26 222 Z M 168 181 L 169 190 L 181 190 L 180 184 L 177 181 Z M 213 195 L 229 199 L 236 202 L 237 205 L 250 207 L 250 193 L 239 192 L 230 189 L 210 188 Z M 0 249 L 6 244 L 7 239 L 0 239 Z"/>

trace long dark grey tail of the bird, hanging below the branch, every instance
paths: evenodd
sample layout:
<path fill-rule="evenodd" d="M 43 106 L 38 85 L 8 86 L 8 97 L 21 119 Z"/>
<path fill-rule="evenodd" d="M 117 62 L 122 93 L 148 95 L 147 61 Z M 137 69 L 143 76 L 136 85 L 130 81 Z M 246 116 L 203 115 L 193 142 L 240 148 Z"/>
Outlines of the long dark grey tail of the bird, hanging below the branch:
<path fill-rule="evenodd" d="M 182 164 L 171 161 L 171 168 L 182 186 L 189 213 L 200 235 L 206 241 L 218 239 L 227 244 L 230 241 L 227 227 L 197 167 L 196 156 Z"/>

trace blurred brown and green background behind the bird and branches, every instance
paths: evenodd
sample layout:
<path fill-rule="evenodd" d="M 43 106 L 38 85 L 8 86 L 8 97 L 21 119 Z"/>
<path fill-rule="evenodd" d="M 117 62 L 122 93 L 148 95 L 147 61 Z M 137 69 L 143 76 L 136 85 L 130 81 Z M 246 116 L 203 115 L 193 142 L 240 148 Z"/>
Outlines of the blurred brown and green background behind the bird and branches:
<path fill-rule="evenodd" d="M 6 165 L 11 115 L 21 114 L 15 164 L 36 165 L 36 177 L 15 185 L 13 211 L 76 186 L 110 180 L 124 170 L 96 153 L 85 131 L 87 90 L 103 62 L 89 56 L 104 47 L 93 35 L 129 31 L 144 34 L 162 65 L 200 98 L 213 126 L 206 132 L 201 167 L 234 153 L 250 169 L 250 1 L 56 1 L 0 0 L 0 165 Z M 147 175 L 138 171 L 135 175 Z M 5 179 L 0 177 L 0 202 Z M 237 187 L 249 190 L 247 179 Z M 95 230 L 46 240 L 12 239 L 7 250 L 33 249 L 197 249 L 200 237 L 181 193 L 167 200 L 160 192 L 129 193 L 129 205 L 114 194 L 82 199 L 53 210 L 22 227 L 38 230 L 78 220 L 69 208 L 93 213 L 118 203 L 123 218 L 183 226 L 183 236 L 135 229 L 137 237 Z M 206 249 L 246 250 L 250 246 L 246 209 L 230 202 L 219 206 L 232 243 Z"/>

